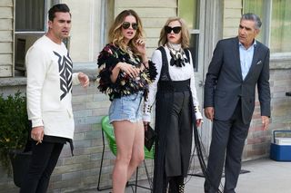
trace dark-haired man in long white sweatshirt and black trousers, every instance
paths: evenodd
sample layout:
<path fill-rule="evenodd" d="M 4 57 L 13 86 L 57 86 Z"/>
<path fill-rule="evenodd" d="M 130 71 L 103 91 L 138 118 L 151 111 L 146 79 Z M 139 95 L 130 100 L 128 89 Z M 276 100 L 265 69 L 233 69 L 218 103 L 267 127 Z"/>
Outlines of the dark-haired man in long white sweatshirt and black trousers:
<path fill-rule="evenodd" d="M 62 42 L 71 29 L 70 9 L 54 5 L 48 12 L 48 32 L 26 53 L 27 112 L 32 121 L 33 156 L 20 192 L 43 193 L 66 142 L 73 152 L 72 84 L 89 84 L 73 63 Z"/>

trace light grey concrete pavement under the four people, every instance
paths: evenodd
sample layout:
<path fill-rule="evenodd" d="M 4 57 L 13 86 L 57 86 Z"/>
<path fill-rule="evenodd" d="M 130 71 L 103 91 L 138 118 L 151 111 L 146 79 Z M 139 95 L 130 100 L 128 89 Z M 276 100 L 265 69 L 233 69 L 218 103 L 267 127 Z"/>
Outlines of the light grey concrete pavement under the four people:
<path fill-rule="evenodd" d="M 236 193 L 290 193 L 291 192 L 291 162 L 278 162 L 271 159 L 256 159 L 243 163 L 242 169 L 249 173 L 240 174 Z M 146 186 L 148 185 L 145 182 Z M 186 183 L 186 193 L 204 193 L 204 179 L 191 177 Z M 98 192 L 95 190 L 85 193 Z M 100 191 L 108 193 L 110 191 Z M 125 193 L 132 193 L 131 188 L 126 188 Z M 149 190 L 137 189 L 138 193 L 150 193 Z"/>

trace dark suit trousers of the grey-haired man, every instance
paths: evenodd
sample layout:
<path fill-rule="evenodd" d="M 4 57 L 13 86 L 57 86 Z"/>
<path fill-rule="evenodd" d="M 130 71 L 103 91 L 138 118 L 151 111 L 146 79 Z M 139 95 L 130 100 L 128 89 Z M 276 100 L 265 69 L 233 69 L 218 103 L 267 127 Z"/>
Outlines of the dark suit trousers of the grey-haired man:
<path fill-rule="evenodd" d="M 241 169 L 241 158 L 250 123 L 242 119 L 241 101 L 236 111 L 227 121 L 214 120 L 207 171 L 210 183 L 205 183 L 205 191 L 217 192 L 225 163 L 225 193 L 234 193 Z"/>

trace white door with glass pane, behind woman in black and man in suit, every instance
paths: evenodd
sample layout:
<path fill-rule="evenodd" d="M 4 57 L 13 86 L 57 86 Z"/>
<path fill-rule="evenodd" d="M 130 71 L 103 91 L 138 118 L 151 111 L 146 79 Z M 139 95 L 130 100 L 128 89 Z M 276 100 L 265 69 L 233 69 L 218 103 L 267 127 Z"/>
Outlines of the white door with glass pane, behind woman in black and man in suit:
<path fill-rule="evenodd" d="M 219 14 L 221 3 L 219 2 L 213 0 L 181 0 L 178 5 L 178 15 L 186 20 L 186 24 L 190 29 L 190 50 L 195 63 L 197 97 L 199 98 L 200 110 L 203 115 L 203 94 L 207 67 L 220 32 L 219 27 L 216 27 L 216 23 L 221 20 Z M 199 128 L 199 133 L 206 155 L 208 155 L 210 147 L 211 130 L 212 122 L 204 117 L 204 123 Z"/>

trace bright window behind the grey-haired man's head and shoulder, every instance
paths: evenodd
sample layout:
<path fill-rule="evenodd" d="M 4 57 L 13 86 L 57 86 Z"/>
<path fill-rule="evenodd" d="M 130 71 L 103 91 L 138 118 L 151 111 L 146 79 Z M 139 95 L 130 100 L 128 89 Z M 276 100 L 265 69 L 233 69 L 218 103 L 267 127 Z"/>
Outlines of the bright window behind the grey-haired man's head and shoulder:
<path fill-rule="evenodd" d="M 244 13 L 258 14 L 263 25 L 258 37 L 271 53 L 291 53 L 291 4 L 289 0 L 245 0 Z"/>

